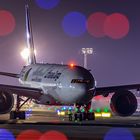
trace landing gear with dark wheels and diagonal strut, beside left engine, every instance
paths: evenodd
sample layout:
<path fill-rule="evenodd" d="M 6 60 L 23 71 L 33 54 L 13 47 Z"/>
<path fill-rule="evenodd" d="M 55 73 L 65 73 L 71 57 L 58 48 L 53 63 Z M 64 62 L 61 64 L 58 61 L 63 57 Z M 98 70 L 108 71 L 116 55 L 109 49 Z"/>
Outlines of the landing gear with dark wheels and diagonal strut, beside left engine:
<path fill-rule="evenodd" d="M 29 101 L 30 98 L 27 98 L 26 100 L 23 100 L 19 95 L 17 95 L 17 103 L 16 103 L 16 108 L 14 111 L 10 112 L 10 119 L 26 119 L 26 114 L 25 111 L 20 111 L 21 107 Z M 21 103 L 21 101 L 23 103 Z"/>

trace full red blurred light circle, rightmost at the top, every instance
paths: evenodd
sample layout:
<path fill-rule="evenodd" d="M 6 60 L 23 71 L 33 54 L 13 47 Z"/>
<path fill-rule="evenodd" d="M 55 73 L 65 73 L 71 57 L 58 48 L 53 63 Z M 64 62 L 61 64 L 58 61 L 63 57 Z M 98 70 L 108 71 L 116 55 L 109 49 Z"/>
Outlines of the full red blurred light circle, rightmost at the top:
<path fill-rule="evenodd" d="M 109 15 L 104 23 L 104 32 L 113 39 L 121 39 L 129 32 L 129 21 L 125 15 L 114 13 Z"/>

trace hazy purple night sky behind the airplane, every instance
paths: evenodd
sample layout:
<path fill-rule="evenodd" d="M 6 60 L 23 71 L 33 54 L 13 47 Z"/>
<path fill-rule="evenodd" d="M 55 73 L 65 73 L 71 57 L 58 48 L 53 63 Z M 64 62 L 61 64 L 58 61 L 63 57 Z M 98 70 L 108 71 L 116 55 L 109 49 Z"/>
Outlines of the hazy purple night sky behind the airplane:
<path fill-rule="evenodd" d="M 26 46 L 25 1 L 0 0 L 0 71 L 19 73 Z M 138 0 L 31 0 L 37 61 L 75 62 L 88 56 L 98 86 L 140 83 L 140 8 Z M 0 83 L 17 84 L 0 77 Z"/>

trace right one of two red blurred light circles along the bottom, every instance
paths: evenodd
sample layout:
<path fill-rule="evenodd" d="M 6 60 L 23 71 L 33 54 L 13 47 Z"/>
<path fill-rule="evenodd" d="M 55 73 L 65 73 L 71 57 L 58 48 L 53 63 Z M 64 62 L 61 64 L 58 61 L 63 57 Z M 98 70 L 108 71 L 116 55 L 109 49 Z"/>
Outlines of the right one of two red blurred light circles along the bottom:
<path fill-rule="evenodd" d="M 39 140 L 68 140 L 66 135 L 52 130 L 44 133 Z"/>

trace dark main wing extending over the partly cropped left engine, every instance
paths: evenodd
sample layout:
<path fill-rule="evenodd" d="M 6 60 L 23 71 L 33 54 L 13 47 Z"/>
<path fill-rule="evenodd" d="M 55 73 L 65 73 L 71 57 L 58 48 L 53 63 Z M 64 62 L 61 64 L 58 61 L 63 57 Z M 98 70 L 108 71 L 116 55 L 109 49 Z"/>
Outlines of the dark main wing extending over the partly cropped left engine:
<path fill-rule="evenodd" d="M 0 94 L 1 92 L 8 92 L 11 94 L 30 97 L 33 99 L 38 99 L 43 94 L 42 90 L 38 88 L 3 85 L 3 84 L 0 84 Z"/>

